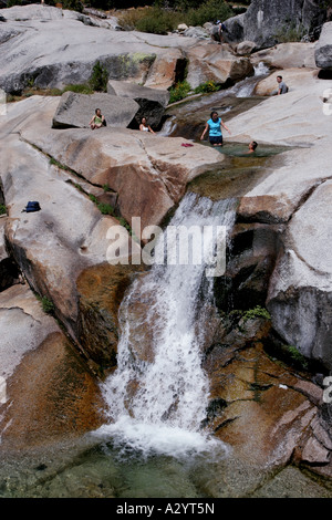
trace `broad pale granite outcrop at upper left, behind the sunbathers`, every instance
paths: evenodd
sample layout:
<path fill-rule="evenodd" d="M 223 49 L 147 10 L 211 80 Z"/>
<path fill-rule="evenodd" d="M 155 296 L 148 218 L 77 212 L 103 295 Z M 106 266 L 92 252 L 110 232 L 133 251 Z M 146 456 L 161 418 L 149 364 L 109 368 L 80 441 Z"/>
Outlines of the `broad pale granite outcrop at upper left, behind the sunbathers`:
<path fill-rule="evenodd" d="M 0 25 L 0 87 L 8 93 L 32 84 L 62 89 L 84 83 L 96 61 L 108 79 L 167 89 L 183 70 L 186 49 L 198 42 L 183 35 L 114 31 L 101 27 L 104 20 L 93 27 L 86 23 L 91 17 L 49 6 L 14 7 L 0 14 L 8 19 Z"/>

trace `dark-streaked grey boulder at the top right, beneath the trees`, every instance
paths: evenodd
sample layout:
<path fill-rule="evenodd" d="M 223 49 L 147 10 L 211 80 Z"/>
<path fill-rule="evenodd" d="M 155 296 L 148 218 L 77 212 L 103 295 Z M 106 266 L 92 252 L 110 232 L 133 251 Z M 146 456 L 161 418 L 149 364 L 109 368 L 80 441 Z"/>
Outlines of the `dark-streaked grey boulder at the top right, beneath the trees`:
<path fill-rule="evenodd" d="M 313 33 L 326 19 L 319 0 L 252 0 L 243 14 L 226 20 L 228 41 L 252 40 L 257 46 L 272 46 L 288 31 Z"/>

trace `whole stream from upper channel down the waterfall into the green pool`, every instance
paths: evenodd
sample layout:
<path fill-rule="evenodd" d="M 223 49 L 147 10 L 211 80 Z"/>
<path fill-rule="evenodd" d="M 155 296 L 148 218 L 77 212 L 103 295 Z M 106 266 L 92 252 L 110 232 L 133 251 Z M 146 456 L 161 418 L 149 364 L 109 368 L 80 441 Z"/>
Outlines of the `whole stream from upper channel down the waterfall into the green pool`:
<path fill-rule="evenodd" d="M 231 89 L 176 108 L 160 134 L 176 135 L 177 114 L 186 121 L 203 110 L 195 119 L 200 133 L 204 111 L 221 103 L 220 114 L 227 113 L 229 101 L 236 105 L 235 100 L 247 100 L 267 73 L 260 64 L 252 77 Z M 188 128 L 191 132 L 191 122 Z M 181 131 L 190 138 L 186 128 Z M 260 175 L 264 166 L 261 157 L 243 159 L 243 145 L 226 145 L 222 153 L 232 156 L 229 173 L 207 173 L 191 183 L 165 229 L 164 242 L 159 238 L 160 261 L 137 275 L 121 304 L 117 368 L 102 385 L 104 426 L 79 439 L 2 453 L 1 498 L 229 498 L 259 489 L 260 472 L 235 460 L 229 446 L 204 426 L 210 397 L 201 357 L 216 312 L 214 279 L 207 274 L 220 243 L 218 232 L 205 230 L 229 233 L 235 198 L 242 189 L 237 188 L 238 177 L 246 170 L 248 189 L 249 173 Z M 168 228 L 194 229 L 187 262 L 179 261 L 179 235 L 168 238 Z M 295 468 L 291 471 L 295 497 L 324 495 L 324 488 L 311 489 L 309 479 Z M 283 488 L 279 492 L 282 496 Z M 268 496 L 277 495 L 272 489 Z"/>

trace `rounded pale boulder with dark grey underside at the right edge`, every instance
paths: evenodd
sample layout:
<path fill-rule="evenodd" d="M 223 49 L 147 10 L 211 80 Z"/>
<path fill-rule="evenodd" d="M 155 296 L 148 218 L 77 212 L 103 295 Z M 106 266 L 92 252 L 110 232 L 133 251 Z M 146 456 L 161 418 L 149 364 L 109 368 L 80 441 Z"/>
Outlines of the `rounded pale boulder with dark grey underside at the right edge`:
<path fill-rule="evenodd" d="M 307 357 L 332 370 L 332 181 L 322 183 L 292 216 L 270 282 L 274 330 Z"/>

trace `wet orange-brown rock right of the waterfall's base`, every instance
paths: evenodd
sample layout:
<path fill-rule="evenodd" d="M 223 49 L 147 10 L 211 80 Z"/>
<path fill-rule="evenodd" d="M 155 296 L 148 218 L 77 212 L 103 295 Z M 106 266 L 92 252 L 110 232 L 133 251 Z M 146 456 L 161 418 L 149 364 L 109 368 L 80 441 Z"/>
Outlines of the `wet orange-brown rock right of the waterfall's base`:
<path fill-rule="evenodd" d="M 220 352 L 227 349 L 225 344 Z M 214 361 L 212 396 L 225 399 L 227 406 L 210 426 L 247 465 L 261 470 L 282 466 L 291 459 L 318 409 L 292 389 L 297 377 L 273 363 L 259 341 L 245 350 L 230 350 L 232 356 L 222 368 Z"/>

